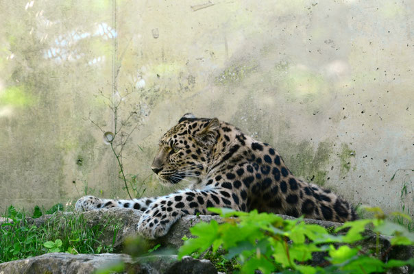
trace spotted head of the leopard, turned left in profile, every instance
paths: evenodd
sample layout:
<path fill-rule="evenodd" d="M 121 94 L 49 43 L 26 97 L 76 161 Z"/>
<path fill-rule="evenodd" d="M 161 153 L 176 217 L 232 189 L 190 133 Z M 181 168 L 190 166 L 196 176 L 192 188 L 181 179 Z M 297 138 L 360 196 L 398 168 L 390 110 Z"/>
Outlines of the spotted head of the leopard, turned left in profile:
<path fill-rule="evenodd" d="M 151 169 L 161 183 L 177 184 L 206 175 L 219 127 L 217 118 L 197 119 L 193 114 L 184 114 L 178 124 L 162 136 L 152 162 Z M 184 179 L 186 177 L 188 179 Z"/>

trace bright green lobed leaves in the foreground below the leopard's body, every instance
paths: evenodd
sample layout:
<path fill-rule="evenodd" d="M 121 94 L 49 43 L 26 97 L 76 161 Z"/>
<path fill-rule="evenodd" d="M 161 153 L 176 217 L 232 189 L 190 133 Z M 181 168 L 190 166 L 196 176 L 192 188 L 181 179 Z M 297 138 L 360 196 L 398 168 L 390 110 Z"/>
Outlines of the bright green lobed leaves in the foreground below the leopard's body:
<path fill-rule="evenodd" d="M 374 219 L 347 222 L 329 232 L 319 225 L 306 224 L 302 219 L 284 220 L 275 214 L 245 213 L 209 208 L 224 217 L 225 223 L 198 223 L 191 228 L 197 238 L 190 238 L 180 248 L 179 258 L 195 252 L 224 250 L 223 258 L 236 259 L 241 273 L 381 273 L 395 266 L 414 265 L 408 261 L 380 260 L 379 235 L 393 236 L 391 245 L 413 245 L 414 234 L 405 227 L 385 219 L 379 208 L 372 208 Z M 375 250 L 359 244 L 363 232 L 371 226 L 376 233 Z M 337 232 L 336 235 L 330 232 Z M 219 249 L 220 248 L 220 249 Z M 314 252 L 328 254 L 326 264 L 310 266 Z M 389 251 L 389 250 L 388 250 Z"/>

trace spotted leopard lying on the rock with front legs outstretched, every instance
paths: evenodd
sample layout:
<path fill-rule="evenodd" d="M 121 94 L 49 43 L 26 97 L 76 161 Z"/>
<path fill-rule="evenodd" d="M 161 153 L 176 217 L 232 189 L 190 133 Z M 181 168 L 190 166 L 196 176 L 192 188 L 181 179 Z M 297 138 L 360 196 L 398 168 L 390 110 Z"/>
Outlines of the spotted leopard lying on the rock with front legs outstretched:
<path fill-rule="evenodd" d="M 295 177 L 280 154 L 241 129 L 217 118 L 184 114 L 159 141 L 151 170 L 160 183 L 187 188 L 160 197 L 100 199 L 85 196 L 77 211 L 141 210 L 138 234 L 165 236 L 185 215 L 212 215 L 208 208 L 268 212 L 344 223 L 357 219 L 354 207 L 329 189 Z"/>

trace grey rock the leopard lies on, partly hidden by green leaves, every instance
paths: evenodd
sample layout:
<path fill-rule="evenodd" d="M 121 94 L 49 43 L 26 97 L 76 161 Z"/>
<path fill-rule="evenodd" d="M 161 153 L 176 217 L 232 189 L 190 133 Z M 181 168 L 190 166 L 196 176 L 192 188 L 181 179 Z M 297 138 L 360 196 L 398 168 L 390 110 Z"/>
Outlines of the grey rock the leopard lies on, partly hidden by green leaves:
<path fill-rule="evenodd" d="M 79 214 L 73 212 L 65 212 L 61 213 L 62 219 L 72 216 L 72 214 Z M 137 224 L 141 217 L 141 212 L 138 210 L 132 209 L 125 209 L 125 208 L 110 208 L 108 210 L 92 210 L 88 212 L 82 213 L 84 220 L 86 223 L 91 227 L 94 225 L 99 225 L 99 223 L 105 223 L 103 227 L 103 235 L 101 238 L 97 239 L 100 241 L 105 242 L 107 245 L 112 244 L 114 239 L 114 235 L 116 234 L 115 241 L 114 241 L 114 250 L 120 252 L 123 250 L 123 241 L 128 236 L 135 236 L 137 232 Z M 292 216 L 285 216 L 280 215 L 284 219 L 295 219 Z M 33 223 L 34 225 L 42 225 L 47 220 L 51 218 L 51 215 L 41 216 L 38 219 L 29 219 L 29 223 Z M 54 215 L 53 218 L 60 218 L 60 216 Z M 206 216 L 206 215 L 199 215 L 193 216 L 188 215 L 182 217 L 177 223 L 175 223 L 169 233 L 166 236 L 158 238 L 156 240 L 149 241 L 150 246 L 154 246 L 156 244 L 160 244 L 161 247 L 173 247 L 174 249 L 178 249 L 183 243 L 183 236 L 191 237 L 191 232 L 189 229 L 193 227 L 199 221 L 211 221 L 215 220 L 219 223 L 222 222 L 222 219 L 219 216 Z M 341 223 L 334 223 L 330 221 L 320 221 L 320 220 L 313 220 L 313 219 L 304 219 L 305 223 L 312 223 L 321 225 L 333 231 L 333 229 L 341 226 Z M 344 232 L 339 232 L 339 234 Z M 358 245 L 364 247 L 364 250 L 369 248 L 376 247 L 376 234 L 374 232 L 367 231 L 365 232 L 366 238 L 361 242 L 358 242 Z M 143 241 L 141 241 L 143 242 Z M 389 237 L 380 236 L 379 238 L 380 248 L 382 253 L 386 253 L 384 260 L 390 259 L 398 259 L 398 260 L 407 260 L 409 258 L 413 258 L 414 256 L 414 247 L 412 246 L 396 246 L 391 249 Z M 313 265 L 323 264 L 324 257 L 326 254 L 324 253 L 315 253 L 313 258 Z M 396 273 L 404 273 L 402 269 L 401 271 Z M 413 271 L 410 267 L 409 271 Z M 1 274 L 1 273 L 0 273 Z"/>

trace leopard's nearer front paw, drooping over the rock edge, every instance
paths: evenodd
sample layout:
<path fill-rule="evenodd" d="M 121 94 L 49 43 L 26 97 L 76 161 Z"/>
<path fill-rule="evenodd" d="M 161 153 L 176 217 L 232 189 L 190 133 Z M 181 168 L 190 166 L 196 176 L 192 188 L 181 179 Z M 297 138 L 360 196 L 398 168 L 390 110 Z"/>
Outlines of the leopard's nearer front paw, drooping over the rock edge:
<path fill-rule="evenodd" d="M 160 208 L 151 208 L 141 216 L 138 222 L 138 233 L 147 239 L 164 236 L 179 218 L 178 212 L 162 212 Z"/>

